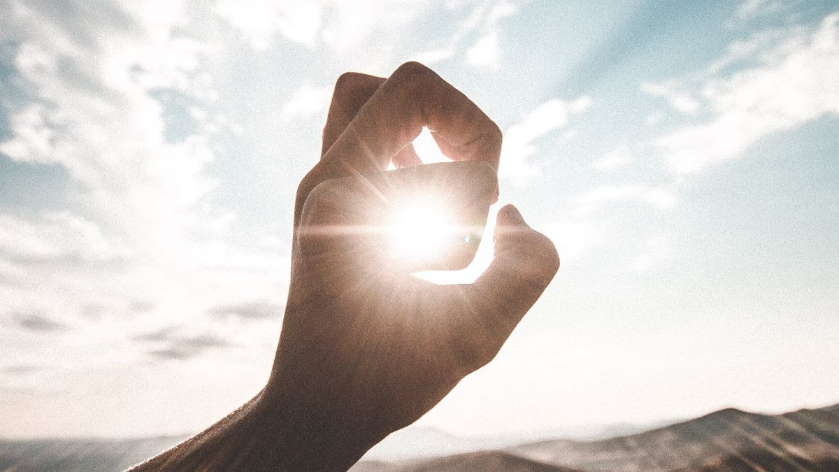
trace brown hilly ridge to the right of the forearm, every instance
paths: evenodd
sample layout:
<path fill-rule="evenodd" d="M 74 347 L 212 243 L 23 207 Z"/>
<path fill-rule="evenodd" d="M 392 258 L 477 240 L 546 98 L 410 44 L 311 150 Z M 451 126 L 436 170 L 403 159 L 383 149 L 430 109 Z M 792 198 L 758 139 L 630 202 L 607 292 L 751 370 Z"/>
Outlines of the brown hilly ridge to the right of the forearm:
<path fill-rule="evenodd" d="M 375 470 L 839 470 L 839 404 L 782 415 L 727 408 L 645 433 L 557 439 L 399 463 Z"/>

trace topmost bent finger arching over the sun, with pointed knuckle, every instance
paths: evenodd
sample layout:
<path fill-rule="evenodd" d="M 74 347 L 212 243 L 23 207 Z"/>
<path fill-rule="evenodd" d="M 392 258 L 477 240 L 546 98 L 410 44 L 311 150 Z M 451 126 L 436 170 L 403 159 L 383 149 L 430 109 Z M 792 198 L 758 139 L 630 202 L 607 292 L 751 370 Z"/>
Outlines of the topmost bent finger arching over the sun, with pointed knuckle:
<path fill-rule="evenodd" d="M 323 160 L 362 175 L 384 170 L 424 126 L 451 144 L 451 159 L 482 160 L 498 170 L 501 130 L 466 95 L 418 62 L 399 66 L 373 92 Z"/>

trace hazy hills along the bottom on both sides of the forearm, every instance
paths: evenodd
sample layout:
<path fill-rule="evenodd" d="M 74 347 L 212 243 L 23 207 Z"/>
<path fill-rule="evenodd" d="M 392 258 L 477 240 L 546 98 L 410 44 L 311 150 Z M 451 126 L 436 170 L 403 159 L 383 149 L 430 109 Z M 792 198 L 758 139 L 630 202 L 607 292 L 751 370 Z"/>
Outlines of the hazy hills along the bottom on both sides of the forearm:
<path fill-rule="evenodd" d="M 181 439 L 0 441 L 0 470 L 121 470 Z M 728 408 L 618 438 L 558 439 L 414 461 L 362 461 L 352 470 L 839 470 L 839 405 L 782 415 Z"/>

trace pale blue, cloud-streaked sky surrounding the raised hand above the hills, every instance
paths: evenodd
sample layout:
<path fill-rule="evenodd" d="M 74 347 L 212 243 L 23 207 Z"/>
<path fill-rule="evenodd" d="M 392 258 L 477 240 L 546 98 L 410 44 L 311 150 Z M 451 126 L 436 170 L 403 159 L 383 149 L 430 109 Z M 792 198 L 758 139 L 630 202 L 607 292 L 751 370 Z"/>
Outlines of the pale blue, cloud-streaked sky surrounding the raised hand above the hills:
<path fill-rule="evenodd" d="M 0 11 L 0 437 L 190 433 L 257 393 L 334 82 L 407 60 L 498 123 L 500 203 L 562 259 L 418 424 L 839 401 L 839 3 Z"/>

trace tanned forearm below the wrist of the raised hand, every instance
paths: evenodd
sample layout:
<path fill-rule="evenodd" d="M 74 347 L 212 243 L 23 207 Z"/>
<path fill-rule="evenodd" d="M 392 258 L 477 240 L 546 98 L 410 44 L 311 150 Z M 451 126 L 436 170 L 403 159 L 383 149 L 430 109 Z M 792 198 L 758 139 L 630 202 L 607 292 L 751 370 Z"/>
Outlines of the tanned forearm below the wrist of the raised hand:
<path fill-rule="evenodd" d="M 352 422 L 264 392 L 202 433 L 138 464 L 145 470 L 346 470 L 378 442 Z"/>

